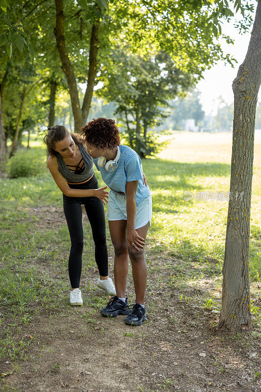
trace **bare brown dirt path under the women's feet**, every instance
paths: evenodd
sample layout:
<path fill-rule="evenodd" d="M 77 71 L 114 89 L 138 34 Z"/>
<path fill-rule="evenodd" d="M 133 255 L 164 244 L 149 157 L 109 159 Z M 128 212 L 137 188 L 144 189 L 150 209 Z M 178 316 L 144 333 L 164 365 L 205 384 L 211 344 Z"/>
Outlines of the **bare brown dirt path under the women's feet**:
<path fill-rule="evenodd" d="M 84 306 L 70 307 L 62 292 L 57 309 L 38 307 L 34 321 L 23 327 L 22 336 L 32 339 L 27 360 L 18 362 L 15 371 L 10 362 L 0 363 L 2 373 L 13 371 L 1 378 L 0 391 L 261 391 L 258 331 L 219 338 L 218 314 L 202 305 L 206 294 L 220 300 L 214 277 L 206 276 L 196 286 L 171 285 L 170 276 L 178 274 L 181 261 L 167 252 L 155 254 L 152 244 L 147 259 L 146 323 L 130 327 L 124 316 L 102 318 L 99 301 L 105 304 L 108 296 L 96 289 L 98 275 L 90 268 L 82 278 Z M 40 267 L 44 284 L 52 290 L 53 267 L 39 261 L 35 268 Z M 128 281 L 133 300 L 131 276 Z"/>

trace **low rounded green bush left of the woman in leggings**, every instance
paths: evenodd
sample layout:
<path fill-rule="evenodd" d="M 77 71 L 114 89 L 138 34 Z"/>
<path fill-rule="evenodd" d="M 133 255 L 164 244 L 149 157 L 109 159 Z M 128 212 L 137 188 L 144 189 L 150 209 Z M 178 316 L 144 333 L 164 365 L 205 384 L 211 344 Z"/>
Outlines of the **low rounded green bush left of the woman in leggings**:
<path fill-rule="evenodd" d="M 43 157 L 35 150 L 19 150 L 8 163 L 11 178 L 38 175 L 43 170 Z"/>

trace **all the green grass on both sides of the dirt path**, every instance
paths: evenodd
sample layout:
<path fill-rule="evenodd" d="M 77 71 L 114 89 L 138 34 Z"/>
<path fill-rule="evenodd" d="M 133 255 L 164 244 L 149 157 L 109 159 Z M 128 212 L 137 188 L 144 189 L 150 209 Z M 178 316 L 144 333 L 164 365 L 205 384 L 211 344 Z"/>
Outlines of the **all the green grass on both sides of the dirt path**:
<path fill-rule="evenodd" d="M 222 143 L 222 138 L 220 140 Z M 175 160 L 163 159 L 163 154 L 161 158 L 146 159 L 142 162 L 152 190 L 153 202 L 147 261 L 153 271 L 158 267 L 156 262 L 151 263 L 150 256 L 166 260 L 165 268 L 170 273 L 169 280 L 165 283 L 170 288 L 181 292 L 184 290 L 180 301 L 189 306 L 196 299 L 186 294 L 186 290 L 196 288 L 203 277 L 213 278 L 217 287 L 220 287 L 228 201 L 196 200 L 195 197 L 185 201 L 183 194 L 184 191 L 190 191 L 194 196 L 197 192 L 228 192 L 230 164 L 228 159 L 220 163 L 218 151 L 213 152 L 211 146 L 209 150 L 205 150 L 206 162 L 198 162 L 194 155 L 187 153 L 193 146 L 184 147 L 185 143 L 180 146 L 179 155 L 175 154 L 176 150 L 172 147 Z M 229 146 L 225 144 L 222 148 L 219 150 L 222 150 L 224 155 Z M 23 340 L 22 329 L 42 312 L 47 312 L 49 317 L 60 317 L 59 310 L 63 312 L 68 305 L 66 295 L 69 284 L 66 269 L 70 242 L 67 227 L 43 227 L 40 230 L 36 226 L 36 223 L 40 222 L 37 211 L 32 214 L 32 208 L 43 205 L 50 208 L 55 205 L 62 211 L 62 194 L 46 168 L 43 146 L 32 147 L 31 150 L 33 152 L 30 152 L 30 156 L 37 156 L 38 162 L 41 162 L 38 175 L 0 179 L 0 297 L 3 309 L 0 327 L 7 325 L 0 343 L 0 360 L 26 359 L 32 339 Z M 170 154 L 170 148 L 167 150 Z M 186 161 L 182 162 L 184 156 Z M 201 156 L 199 158 L 201 159 Z M 253 178 L 250 241 L 252 282 L 259 282 L 261 276 L 260 167 L 261 163 L 258 162 Z M 100 186 L 103 186 L 100 173 L 96 172 L 96 175 Z M 95 266 L 94 246 L 92 241 L 88 241 L 91 238 L 89 224 L 84 228 L 84 233 L 84 258 L 87 262 L 83 266 L 83 273 L 85 269 Z M 107 235 L 109 239 L 109 232 Z M 174 264 L 174 259 L 180 260 L 180 263 Z M 41 267 L 42 263 L 47 263 L 52 277 L 46 276 Z M 160 270 L 158 277 L 155 286 L 160 287 Z M 85 290 L 92 291 L 91 296 L 86 296 L 86 306 L 95 312 L 103 304 L 103 298 L 95 295 L 92 287 L 86 287 Z M 260 296 L 260 293 L 257 295 Z M 200 301 L 202 309 L 219 310 L 219 304 L 207 294 L 202 294 Z M 153 299 L 150 306 L 154 306 Z M 66 311 L 71 310 L 66 308 Z M 253 319 L 260 322 L 260 309 L 252 304 L 252 312 Z M 83 316 L 90 326 L 93 324 L 92 314 L 91 312 Z"/>

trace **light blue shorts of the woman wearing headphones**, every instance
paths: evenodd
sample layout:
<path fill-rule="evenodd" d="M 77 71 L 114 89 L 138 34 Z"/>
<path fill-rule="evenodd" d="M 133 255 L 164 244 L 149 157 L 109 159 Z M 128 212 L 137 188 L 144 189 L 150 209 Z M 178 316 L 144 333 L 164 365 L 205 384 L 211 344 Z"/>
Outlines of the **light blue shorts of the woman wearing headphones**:
<path fill-rule="evenodd" d="M 108 201 L 108 221 L 127 221 L 126 196 L 116 192 L 109 192 Z M 136 216 L 134 229 L 145 226 L 148 222 L 152 223 L 152 195 L 146 197 L 136 206 Z"/>

